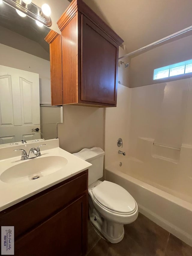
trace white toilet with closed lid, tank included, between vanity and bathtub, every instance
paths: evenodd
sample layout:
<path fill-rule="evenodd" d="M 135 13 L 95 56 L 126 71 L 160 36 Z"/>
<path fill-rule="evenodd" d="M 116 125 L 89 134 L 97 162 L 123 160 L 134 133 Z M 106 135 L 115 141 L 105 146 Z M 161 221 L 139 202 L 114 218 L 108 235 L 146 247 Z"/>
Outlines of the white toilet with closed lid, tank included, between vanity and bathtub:
<path fill-rule="evenodd" d="M 74 153 L 92 164 L 88 171 L 89 217 L 91 223 L 112 243 L 124 237 L 124 224 L 137 219 L 138 206 L 134 198 L 121 186 L 100 181 L 103 177 L 105 152 L 101 148 L 82 149 Z"/>

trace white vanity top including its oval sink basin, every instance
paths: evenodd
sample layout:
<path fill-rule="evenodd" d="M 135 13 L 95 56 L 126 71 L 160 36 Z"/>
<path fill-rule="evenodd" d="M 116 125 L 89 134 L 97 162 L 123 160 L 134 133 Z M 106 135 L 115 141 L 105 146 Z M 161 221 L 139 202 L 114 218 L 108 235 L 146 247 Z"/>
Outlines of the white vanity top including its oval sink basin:
<path fill-rule="evenodd" d="M 41 144 L 46 144 L 41 147 L 41 156 L 31 159 L 20 160 L 21 151 L 13 151 L 22 148 L 29 152 L 32 147 L 37 148 Z M 59 148 L 58 139 L 0 148 L 0 211 L 87 170 L 90 166 L 88 162 Z M 16 172 L 11 172 L 9 168 L 14 168 Z M 10 179 L 5 172 L 10 175 Z M 40 178 L 29 179 L 31 174 Z"/>

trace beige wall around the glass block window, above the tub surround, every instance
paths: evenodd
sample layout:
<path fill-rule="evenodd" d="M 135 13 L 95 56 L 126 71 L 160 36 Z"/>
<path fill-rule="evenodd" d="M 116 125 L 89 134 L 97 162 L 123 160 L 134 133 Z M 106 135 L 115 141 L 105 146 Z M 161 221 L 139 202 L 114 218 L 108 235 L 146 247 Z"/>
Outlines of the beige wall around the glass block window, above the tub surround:
<path fill-rule="evenodd" d="M 191 42 L 192 35 L 161 45 L 155 49 L 133 57 L 131 59 L 131 65 L 129 66 L 129 86 L 134 88 L 170 80 L 178 80 L 178 76 L 175 76 L 164 80 L 154 81 L 154 69 L 192 59 Z M 190 76 L 191 74 L 184 75 L 184 77 L 180 76 L 180 79 Z"/>

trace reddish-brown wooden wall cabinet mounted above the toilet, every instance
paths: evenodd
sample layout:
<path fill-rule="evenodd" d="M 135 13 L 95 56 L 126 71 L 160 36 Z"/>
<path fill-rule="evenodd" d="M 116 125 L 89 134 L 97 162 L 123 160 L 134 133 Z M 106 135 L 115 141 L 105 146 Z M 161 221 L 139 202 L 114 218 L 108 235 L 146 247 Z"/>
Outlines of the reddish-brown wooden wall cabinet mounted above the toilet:
<path fill-rule="evenodd" d="M 116 107 L 119 45 L 123 40 L 82 0 L 73 0 L 57 24 L 61 30 L 59 86 L 63 104 Z M 51 48 L 52 44 L 50 53 Z"/>

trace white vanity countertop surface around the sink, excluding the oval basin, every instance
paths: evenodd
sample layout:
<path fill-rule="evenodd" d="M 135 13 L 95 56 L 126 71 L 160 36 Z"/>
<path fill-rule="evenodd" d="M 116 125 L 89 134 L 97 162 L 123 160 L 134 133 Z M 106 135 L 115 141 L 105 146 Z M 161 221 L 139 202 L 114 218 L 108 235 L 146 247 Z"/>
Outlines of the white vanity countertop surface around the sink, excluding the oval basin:
<path fill-rule="evenodd" d="M 50 141 L 50 143 L 49 143 Z M 16 157 L 12 158 L 6 158 L 0 160 L 0 211 L 16 204 L 19 203 L 20 201 L 31 197 L 46 188 L 49 188 L 61 181 L 64 181 L 84 170 L 87 170 L 91 164 L 70 154 L 69 152 L 61 149 L 58 147 L 58 139 L 55 140 L 45 140 L 43 143 L 46 144 L 46 146 L 41 147 L 41 156 L 28 159 L 28 160 L 20 160 L 21 158 L 21 151 L 16 151 L 14 152 L 13 149 L 18 149 L 19 147 L 22 149 L 27 149 L 32 148 L 32 147 L 37 147 L 42 142 L 38 143 L 29 143 L 25 144 L 27 148 L 24 148 L 24 146 L 21 147 L 21 145 L 18 146 L 11 146 L 8 147 L 9 151 L 7 151 L 6 147 L 6 152 L 11 155 L 11 152 L 13 152 L 13 155 L 17 155 Z M 5 148 L 4 148 L 5 149 Z M 44 149 L 44 150 L 43 150 Z M 0 150 L 0 154 L 3 152 L 3 148 Z M 19 152 L 19 153 L 18 153 Z M 4 154 L 5 155 L 5 154 Z M 19 156 L 18 156 L 19 155 Z M 1 174 L 7 170 L 8 168 L 12 167 L 13 165 L 21 164 L 23 162 L 29 162 L 29 164 L 34 164 L 35 161 L 37 161 L 38 158 L 46 158 L 48 156 L 61 156 L 67 159 L 67 164 L 64 165 L 63 168 L 60 170 L 57 170 L 53 173 L 50 173 L 46 176 L 42 176 L 38 179 L 35 180 L 29 180 L 29 181 L 21 181 L 21 182 L 3 182 L 1 180 Z M 38 171 L 37 171 L 38 173 Z"/>

